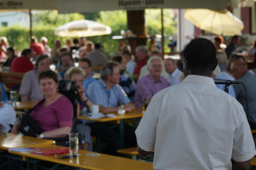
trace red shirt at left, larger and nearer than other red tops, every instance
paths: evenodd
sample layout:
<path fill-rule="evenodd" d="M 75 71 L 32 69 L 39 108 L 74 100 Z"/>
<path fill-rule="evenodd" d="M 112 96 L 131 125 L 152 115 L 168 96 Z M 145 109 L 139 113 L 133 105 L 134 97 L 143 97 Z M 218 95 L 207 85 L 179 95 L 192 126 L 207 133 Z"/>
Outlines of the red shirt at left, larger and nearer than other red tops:
<path fill-rule="evenodd" d="M 34 65 L 26 57 L 15 57 L 10 72 L 27 72 L 34 69 Z"/>

